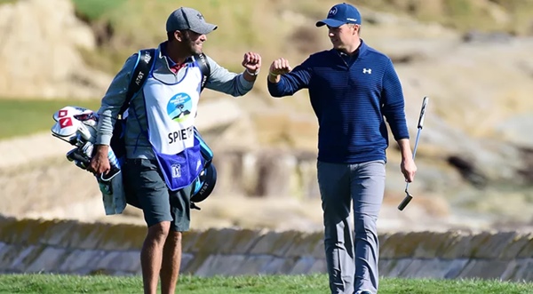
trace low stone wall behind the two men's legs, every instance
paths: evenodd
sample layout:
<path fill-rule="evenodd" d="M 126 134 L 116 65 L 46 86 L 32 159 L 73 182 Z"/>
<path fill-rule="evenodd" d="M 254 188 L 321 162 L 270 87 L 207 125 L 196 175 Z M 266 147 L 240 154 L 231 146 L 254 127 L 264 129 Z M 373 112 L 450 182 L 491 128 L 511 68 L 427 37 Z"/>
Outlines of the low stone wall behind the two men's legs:
<path fill-rule="evenodd" d="M 0 272 L 140 274 L 144 226 L 2 219 Z M 417 278 L 533 281 L 533 234 L 381 234 L 380 274 Z M 208 229 L 183 239 L 182 272 L 325 273 L 322 233 Z"/>

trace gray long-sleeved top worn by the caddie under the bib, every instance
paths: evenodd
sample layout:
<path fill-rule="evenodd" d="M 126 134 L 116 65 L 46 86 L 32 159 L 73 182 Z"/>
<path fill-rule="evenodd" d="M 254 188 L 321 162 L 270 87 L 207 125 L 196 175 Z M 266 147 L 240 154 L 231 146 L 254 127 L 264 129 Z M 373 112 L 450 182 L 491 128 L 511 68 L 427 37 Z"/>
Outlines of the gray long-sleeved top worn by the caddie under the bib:
<path fill-rule="evenodd" d="M 157 52 L 159 53 L 155 57 L 154 71 L 158 75 L 168 75 L 170 80 L 180 80 L 185 71 L 180 70 L 178 75 L 174 74 L 169 68 L 169 60 L 161 54 L 161 50 Z M 101 107 L 98 111 L 99 122 L 96 144 L 109 145 L 111 142 L 115 120 L 126 99 L 126 91 L 130 83 L 131 72 L 137 62 L 137 55 L 135 53 L 126 60 L 123 68 L 115 75 L 106 95 L 102 99 Z M 246 81 L 243 74 L 229 72 L 226 68 L 220 67 L 210 57 L 207 57 L 207 61 L 211 68 L 211 75 L 205 85 L 206 88 L 234 97 L 243 96 L 248 91 L 251 91 L 253 82 Z M 128 113 L 125 133 L 126 156 L 128 158 L 155 158 L 152 147 L 147 140 L 147 115 L 142 91 L 139 91 L 131 99 Z"/>

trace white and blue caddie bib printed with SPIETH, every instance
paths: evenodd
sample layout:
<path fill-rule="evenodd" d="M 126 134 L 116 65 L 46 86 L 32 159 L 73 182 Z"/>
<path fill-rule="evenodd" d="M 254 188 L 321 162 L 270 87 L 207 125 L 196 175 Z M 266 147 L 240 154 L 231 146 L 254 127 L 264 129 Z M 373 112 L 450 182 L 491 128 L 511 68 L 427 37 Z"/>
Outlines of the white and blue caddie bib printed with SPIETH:
<path fill-rule="evenodd" d="M 202 73 L 195 63 L 179 70 L 185 75 L 178 82 L 169 83 L 168 74 L 151 72 L 143 87 L 148 140 L 173 191 L 190 185 L 203 168 L 194 129 Z"/>

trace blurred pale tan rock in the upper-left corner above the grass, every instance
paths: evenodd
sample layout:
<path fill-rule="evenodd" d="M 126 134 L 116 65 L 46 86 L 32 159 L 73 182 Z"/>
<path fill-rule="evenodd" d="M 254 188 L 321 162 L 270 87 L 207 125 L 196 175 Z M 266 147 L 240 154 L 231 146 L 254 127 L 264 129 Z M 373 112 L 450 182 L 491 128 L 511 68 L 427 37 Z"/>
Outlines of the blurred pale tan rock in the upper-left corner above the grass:
<path fill-rule="evenodd" d="M 0 32 L 0 97 L 98 98 L 111 81 L 84 65 L 95 39 L 68 0 L 0 5 Z"/>

